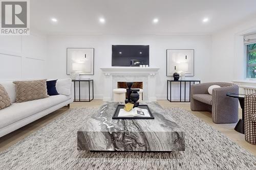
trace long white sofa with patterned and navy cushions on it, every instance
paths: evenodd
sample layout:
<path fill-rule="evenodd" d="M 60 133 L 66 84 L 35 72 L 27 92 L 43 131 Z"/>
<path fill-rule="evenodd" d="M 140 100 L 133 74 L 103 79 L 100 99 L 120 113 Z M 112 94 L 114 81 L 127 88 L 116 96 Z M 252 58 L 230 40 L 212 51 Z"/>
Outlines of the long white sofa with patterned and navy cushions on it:
<path fill-rule="evenodd" d="M 73 102 L 71 79 L 57 80 L 56 89 L 59 95 L 23 103 L 15 103 L 16 92 L 12 81 L 0 84 L 5 87 L 12 102 L 11 106 L 0 110 L 0 137 Z"/>

